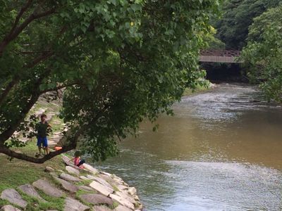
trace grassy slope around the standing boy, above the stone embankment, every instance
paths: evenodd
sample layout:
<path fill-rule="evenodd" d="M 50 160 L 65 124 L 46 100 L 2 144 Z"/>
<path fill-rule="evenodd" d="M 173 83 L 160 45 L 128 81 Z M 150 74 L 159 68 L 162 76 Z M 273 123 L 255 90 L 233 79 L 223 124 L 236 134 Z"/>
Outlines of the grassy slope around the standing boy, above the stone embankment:
<path fill-rule="evenodd" d="M 39 99 L 34 108 L 30 111 L 30 115 L 37 113 L 40 110 L 41 113 L 58 113 L 59 105 L 55 103 L 47 103 L 44 99 Z M 51 115 L 49 115 L 51 116 Z M 58 132 L 63 127 L 61 125 L 62 120 L 56 115 L 51 116 L 49 123 L 52 126 L 53 133 Z M 51 136 L 49 136 L 51 139 Z M 27 146 L 23 148 L 12 148 L 14 151 L 25 153 L 30 156 L 35 156 L 35 153 L 38 152 L 36 146 L 36 138 L 27 141 Z M 65 166 L 61 161 L 61 156 L 57 156 L 44 164 L 35 164 L 31 162 L 26 162 L 23 160 L 13 159 L 9 161 L 8 157 L 0 153 L 0 193 L 5 188 L 16 188 L 20 185 L 32 183 L 37 179 L 42 179 L 42 177 L 47 177 L 49 174 L 44 174 L 44 168 L 51 166 L 56 168 L 56 170 L 64 170 Z"/>

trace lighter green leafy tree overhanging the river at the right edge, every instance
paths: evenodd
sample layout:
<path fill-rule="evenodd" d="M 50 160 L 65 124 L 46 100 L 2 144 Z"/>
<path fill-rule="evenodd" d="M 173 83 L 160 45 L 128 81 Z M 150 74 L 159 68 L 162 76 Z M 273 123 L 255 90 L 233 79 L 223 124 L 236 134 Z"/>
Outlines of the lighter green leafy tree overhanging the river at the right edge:
<path fill-rule="evenodd" d="M 282 102 L 282 5 L 254 19 L 242 58 L 268 100 Z"/>

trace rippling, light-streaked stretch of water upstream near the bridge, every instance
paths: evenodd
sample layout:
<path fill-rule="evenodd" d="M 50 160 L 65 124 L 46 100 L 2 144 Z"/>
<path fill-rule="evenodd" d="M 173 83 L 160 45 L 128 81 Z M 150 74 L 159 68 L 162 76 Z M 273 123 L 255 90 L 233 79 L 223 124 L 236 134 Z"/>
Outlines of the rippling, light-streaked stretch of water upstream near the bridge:
<path fill-rule="evenodd" d="M 264 108 L 278 107 L 262 101 L 262 96 L 255 87 L 231 84 L 221 84 L 219 88 L 208 93 L 185 96 L 174 106 L 179 115 L 197 117 L 205 123 L 233 122 L 246 110 Z"/>

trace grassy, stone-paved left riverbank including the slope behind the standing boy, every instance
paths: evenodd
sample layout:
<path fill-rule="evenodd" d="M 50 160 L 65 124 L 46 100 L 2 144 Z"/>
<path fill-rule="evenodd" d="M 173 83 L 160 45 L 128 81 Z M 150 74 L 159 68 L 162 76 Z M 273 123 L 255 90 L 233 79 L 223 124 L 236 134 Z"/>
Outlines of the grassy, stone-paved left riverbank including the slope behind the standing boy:
<path fill-rule="evenodd" d="M 41 113 L 47 114 L 52 126 L 49 146 L 53 148 L 59 143 L 64 126 L 63 121 L 57 117 L 59 104 L 40 99 L 30 114 Z M 36 140 L 26 139 L 22 134 L 17 136 L 27 145 L 13 150 L 34 156 L 38 151 Z M 90 165 L 80 170 L 66 162 L 66 155 L 59 155 L 44 164 L 18 159 L 9 161 L 7 158 L 0 154 L 0 210 L 142 210 L 134 187 L 128 186 L 120 177 Z M 27 191 L 23 191 L 23 188 Z M 56 193 L 60 193 L 59 196 Z"/>

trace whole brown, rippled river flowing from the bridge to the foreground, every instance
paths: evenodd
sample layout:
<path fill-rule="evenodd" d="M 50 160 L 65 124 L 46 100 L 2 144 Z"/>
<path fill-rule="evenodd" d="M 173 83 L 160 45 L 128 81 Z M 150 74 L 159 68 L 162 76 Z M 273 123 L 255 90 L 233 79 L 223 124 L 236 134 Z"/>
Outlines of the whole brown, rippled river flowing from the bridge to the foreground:
<path fill-rule="evenodd" d="M 96 163 L 137 188 L 145 210 L 282 210 L 282 108 L 255 87 L 183 97 Z"/>

